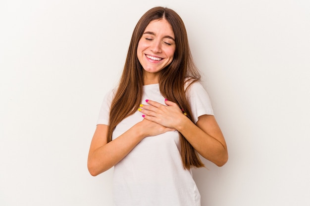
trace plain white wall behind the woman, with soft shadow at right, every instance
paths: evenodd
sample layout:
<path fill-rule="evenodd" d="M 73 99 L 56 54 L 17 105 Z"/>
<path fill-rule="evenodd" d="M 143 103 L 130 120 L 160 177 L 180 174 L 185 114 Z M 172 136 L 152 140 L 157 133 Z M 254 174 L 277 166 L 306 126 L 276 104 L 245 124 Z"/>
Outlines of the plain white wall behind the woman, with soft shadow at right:
<path fill-rule="evenodd" d="M 309 0 L 1 0 L 0 206 L 111 206 L 87 155 L 148 9 L 179 13 L 229 161 L 202 206 L 310 205 Z"/>

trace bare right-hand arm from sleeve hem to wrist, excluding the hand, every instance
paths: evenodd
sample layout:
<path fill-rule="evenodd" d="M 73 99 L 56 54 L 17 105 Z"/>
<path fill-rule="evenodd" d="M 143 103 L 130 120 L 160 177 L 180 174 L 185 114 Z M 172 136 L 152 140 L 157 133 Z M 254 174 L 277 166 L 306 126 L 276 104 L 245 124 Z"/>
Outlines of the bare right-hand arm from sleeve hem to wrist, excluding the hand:
<path fill-rule="evenodd" d="M 228 159 L 227 146 L 215 119 L 208 118 L 212 121 L 199 120 L 197 125 L 188 118 L 182 118 L 176 125 L 176 129 L 183 134 L 200 155 L 215 165 L 222 166 Z M 206 117 L 202 119 L 206 119 Z"/>

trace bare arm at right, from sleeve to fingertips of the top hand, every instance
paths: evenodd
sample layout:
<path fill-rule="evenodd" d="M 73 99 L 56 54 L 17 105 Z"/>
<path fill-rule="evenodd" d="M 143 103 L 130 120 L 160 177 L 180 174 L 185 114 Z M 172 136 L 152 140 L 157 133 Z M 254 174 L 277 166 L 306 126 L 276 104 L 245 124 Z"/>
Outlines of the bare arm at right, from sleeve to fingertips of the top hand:
<path fill-rule="evenodd" d="M 171 101 L 165 103 L 167 106 L 149 100 L 150 105 L 143 105 L 141 112 L 146 115 L 145 119 L 181 132 L 207 160 L 218 166 L 224 165 L 228 160 L 227 146 L 214 116 L 200 116 L 198 122 L 194 124 L 175 103 Z"/>

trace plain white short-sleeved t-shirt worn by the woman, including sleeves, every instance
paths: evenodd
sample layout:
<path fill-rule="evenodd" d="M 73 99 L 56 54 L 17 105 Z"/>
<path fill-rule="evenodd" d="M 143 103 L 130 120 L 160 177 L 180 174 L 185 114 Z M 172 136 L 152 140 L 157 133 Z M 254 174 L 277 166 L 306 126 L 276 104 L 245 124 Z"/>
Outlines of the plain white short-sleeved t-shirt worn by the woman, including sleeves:
<path fill-rule="evenodd" d="M 187 90 L 195 123 L 202 115 L 213 115 L 210 99 L 199 82 Z M 113 92 L 105 95 L 98 124 L 108 124 L 109 105 Z M 163 105 L 159 84 L 143 86 L 142 104 L 146 99 Z M 136 112 L 115 128 L 117 138 L 134 124 L 143 120 Z M 200 206 L 200 194 L 192 171 L 183 168 L 179 151 L 178 131 L 169 131 L 144 138 L 125 158 L 114 166 L 114 206 Z"/>

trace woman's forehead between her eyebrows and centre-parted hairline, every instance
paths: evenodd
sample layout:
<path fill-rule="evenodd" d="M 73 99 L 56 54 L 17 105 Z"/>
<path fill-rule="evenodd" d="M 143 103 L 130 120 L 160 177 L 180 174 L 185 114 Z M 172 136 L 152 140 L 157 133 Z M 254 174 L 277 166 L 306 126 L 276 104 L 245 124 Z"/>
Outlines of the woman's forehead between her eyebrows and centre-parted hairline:
<path fill-rule="evenodd" d="M 165 19 L 152 20 L 145 28 L 144 32 L 153 32 L 155 35 L 164 34 L 174 38 L 172 26 Z"/>

